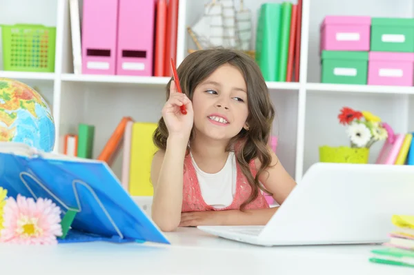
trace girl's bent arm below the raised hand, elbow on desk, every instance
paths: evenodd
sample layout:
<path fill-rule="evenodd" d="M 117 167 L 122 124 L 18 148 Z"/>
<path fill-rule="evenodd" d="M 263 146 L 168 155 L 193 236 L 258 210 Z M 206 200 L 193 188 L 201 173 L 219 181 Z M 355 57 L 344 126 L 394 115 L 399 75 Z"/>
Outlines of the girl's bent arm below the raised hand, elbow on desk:
<path fill-rule="evenodd" d="M 152 159 L 151 181 L 154 187 L 151 216 L 160 230 L 175 230 L 181 220 L 183 167 L 188 139 L 169 136 L 166 152 Z"/>

